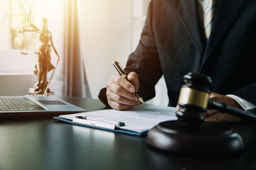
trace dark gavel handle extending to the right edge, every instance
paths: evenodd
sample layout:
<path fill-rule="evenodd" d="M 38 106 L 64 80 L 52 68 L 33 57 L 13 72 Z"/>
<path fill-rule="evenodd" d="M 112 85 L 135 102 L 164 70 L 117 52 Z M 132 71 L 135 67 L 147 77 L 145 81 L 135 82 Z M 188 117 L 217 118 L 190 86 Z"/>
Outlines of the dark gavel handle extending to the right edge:
<path fill-rule="evenodd" d="M 220 111 L 221 113 L 229 113 L 231 115 L 235 115 L 238 118 L 242 118 L 243 120 L 255 120 L 256 121 L 256 114 L 250 113 L 247 111 L 242 111 L 238 108 L 233 108 L 225 103 L 218 103 L 214 101 L 213 99 L 209 100 L 208 108 L 215 109 Z"/>

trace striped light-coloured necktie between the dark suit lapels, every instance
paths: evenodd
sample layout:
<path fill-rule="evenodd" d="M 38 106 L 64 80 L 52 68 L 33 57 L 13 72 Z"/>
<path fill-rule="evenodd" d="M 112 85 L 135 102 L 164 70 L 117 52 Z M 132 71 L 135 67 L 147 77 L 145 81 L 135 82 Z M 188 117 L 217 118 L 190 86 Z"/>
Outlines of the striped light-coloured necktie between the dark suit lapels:
<path fill-rule="evenodd" d="M 209 40 L 210 38 L 210 31 L 213 26 L 215 11 L 216 11 L 216 1 L 210 0 L 208 7 L 206 8 L 205 14 L 203 16 L 203 25 L 205 28 L 207 40 Z"/>

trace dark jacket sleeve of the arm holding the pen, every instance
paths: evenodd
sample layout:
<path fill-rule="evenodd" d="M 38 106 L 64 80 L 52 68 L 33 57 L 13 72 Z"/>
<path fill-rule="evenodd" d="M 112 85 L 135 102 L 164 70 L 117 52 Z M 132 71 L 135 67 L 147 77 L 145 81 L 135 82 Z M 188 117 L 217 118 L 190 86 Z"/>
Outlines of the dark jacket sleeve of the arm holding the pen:
<path fill-rule="evenodd" d="M 154 38 L 154 28 L 152 28 L 152 8 L 153 1 L 149 3 L 144 28 L 137 49 L 129 55 L 126 68 L 126 74 L 136 72 L 139 77 L 139 94 L 147 101 L 155 96 L 154 86 L 161 78 L 162 71 L 159 61 L 159 55 Z M 98 96 L 102 103 L 107 103 L 106 88 L 100 91 Z"/>

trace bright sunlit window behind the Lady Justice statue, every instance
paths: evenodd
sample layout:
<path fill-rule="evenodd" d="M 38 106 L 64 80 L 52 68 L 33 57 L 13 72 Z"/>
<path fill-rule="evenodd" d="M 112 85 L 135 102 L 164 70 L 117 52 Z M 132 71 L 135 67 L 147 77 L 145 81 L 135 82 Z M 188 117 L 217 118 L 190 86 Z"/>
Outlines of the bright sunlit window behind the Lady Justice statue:
<path fill-rule="evenodd" d="M 48 18 L 49 30 L 55 37 L 53 41 L 56 41 L 56 37 L 59 38 L 63 33 L 63 30 L 58 28 L 61 27 L 60 23 L 63 23 L 64 2 L 63 0 L 0 0 L 0 74 L 21 74 L 21 72 L 33 74 L 36 64 L 34 52 L 38 50 L 38 37 L 36 33 L 18 31 L 28 28 L 28 13 L 31 6 L 31 22 L 41 28 L 41 18 Z M 62 42 L 59 46 L 63 45 Z M 54 44 L 58 47 L 58 43 Z M 22 55 L 21 52 L 28 55 Z"/>

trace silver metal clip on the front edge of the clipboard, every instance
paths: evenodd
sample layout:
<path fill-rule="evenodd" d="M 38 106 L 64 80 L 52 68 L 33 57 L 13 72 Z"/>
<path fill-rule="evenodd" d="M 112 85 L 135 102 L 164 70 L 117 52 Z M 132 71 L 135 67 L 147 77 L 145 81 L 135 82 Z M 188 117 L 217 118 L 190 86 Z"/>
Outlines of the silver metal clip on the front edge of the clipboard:
<path fill-rule="evenodd" d="M 100 128 L 107 128 L 115 130 L 120 126 L 124 126 L 123 122 L 114 122 L 110 120 L 106 120 L 105 118 L 89 118 L 87 116 L 76 116 L 73 118 L 73 123 L 80 123 L 83 125 L 90 125 Z"/>

